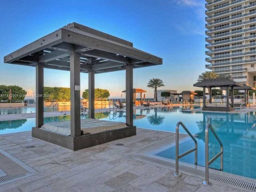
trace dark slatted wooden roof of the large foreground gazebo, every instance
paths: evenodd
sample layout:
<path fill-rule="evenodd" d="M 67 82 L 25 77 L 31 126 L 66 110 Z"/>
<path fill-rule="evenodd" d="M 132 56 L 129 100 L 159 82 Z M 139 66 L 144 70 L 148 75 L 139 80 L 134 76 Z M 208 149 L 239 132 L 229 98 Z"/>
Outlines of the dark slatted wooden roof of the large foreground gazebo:
<path fill-rule="evenodd" d="M 145 42 L 146 43 L 146 42 Z M 72 23 L 60 28 L 4 57 L 5 63 L 70 70 L 70 51 L 80 55 L 80 71 L 95 73 L 162 64 L 162 58 L 133 47 L 132 42 Z M 93 62 L 90 58 L 97 58 Z"/>

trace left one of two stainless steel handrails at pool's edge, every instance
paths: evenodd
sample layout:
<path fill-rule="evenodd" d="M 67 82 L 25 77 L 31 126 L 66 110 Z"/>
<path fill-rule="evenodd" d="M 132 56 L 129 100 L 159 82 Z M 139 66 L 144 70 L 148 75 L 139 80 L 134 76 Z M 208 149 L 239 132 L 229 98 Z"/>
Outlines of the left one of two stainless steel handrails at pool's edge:
<path fill-rule="evenodd" d="M 179 126 L 180 125 L 195 142 L 195 148 L 188 150 L 187 152 L 181 155 L 179 155 Z M 197 141 L 194 138 L 194 136 L 190 133 L 190 131 L 186 128 L 186 126 L 182 122 L 178 122 L 176 125 L 176 151 L 175 151 L 176 169 L 175 169 L 175 173 L 173 174 L 174 176 L 177 176 L 177 177 L 181 176 L 181 174 L 179 173 L 179 158 L 182 158 L 193 151 L 195 152 L 195 165 L 197 165 Z"/>

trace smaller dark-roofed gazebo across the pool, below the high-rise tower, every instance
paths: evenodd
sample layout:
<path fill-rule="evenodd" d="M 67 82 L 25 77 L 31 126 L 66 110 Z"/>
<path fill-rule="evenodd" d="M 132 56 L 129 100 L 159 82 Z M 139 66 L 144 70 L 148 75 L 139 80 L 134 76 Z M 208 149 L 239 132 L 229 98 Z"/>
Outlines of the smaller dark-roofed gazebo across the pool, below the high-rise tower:
<path fill-rule="evenodd" d="M 234 108 L 234 87 L 241 87 L 242 84 L 235 82 L 233 80 L 227 78 L 215 78 L 215 79 L 204 79 L 200 82 L 194 84 L 194 87 L 202 87 L 203 88 L 203 108 L 202 110 L 208 111 L 233 111 Z M 227 101 L 226 105 L 222 104 L 212 104 L 212 88 L 213 87 L 225 87 L 226 88 L 226 96 Z M 206 88 L 209 89 L 209 103 L 206 103 Z M 231 105 L 229 104 L 229 90 L 230 91 L 230 98 L 231 98 Z"/>

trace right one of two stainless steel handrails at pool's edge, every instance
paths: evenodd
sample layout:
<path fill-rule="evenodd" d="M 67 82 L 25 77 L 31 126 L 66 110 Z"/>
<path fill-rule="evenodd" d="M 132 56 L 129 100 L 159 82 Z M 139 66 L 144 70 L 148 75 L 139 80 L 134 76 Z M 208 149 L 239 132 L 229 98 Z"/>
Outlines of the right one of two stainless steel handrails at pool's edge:
<path fill-rule="evenodd" d="M 210 161 L 209 161 L 209 131 L 208 131 L 209 129 L 212 131 L 212 134 L 220 144 L 220 152 L 216 154 Z M 220 138 L 218 137 L 214 129 L 212 128 L 212 126 L 210 124 L 207 124 L 205 127 L 205 181 L 203 181 L 204 185 L 207 185 L 207 186 L 212 185 L 209 182 L 209 165 L 212 164 L 212 162 L 214 162 L 219 156 L 220 156 L 220 170 L 222 171 L 223 170 L 223 144 L 220 141 Z"/>

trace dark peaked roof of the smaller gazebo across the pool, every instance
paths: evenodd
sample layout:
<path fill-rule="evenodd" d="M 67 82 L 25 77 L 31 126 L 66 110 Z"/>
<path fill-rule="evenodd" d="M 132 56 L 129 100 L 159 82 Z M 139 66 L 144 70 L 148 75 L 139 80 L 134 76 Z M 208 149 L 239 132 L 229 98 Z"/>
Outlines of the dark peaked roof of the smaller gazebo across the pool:
<path fill-rule="evenodd" d="M 215 78 L 215 79 L 204 79 L 200 82 L 197 82 L 193 85 L 194 87 L 239 87 L 242 84 L 235 82 L 227 78 Z"/>

